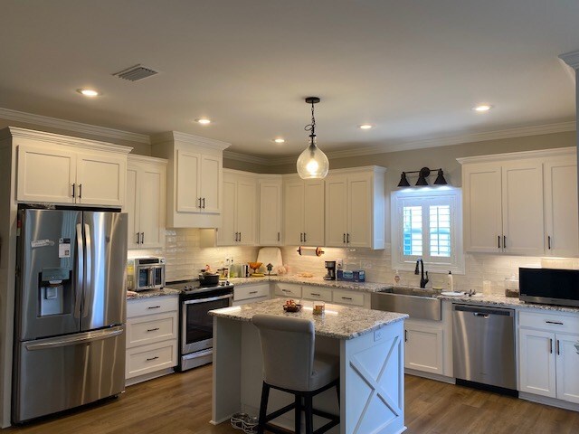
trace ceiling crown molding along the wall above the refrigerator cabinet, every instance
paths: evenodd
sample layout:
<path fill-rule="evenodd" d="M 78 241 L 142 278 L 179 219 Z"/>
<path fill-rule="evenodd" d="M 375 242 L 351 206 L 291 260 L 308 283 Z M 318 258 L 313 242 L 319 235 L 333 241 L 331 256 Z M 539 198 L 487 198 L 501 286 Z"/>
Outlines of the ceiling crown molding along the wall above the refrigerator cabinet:
<path fill-rule="evenodd" d="M 97 127 L 94 125 L 82 124 L 81 122 L 74 122 L 72 120 L 33 115 L 32 113 L 25 113 L 24 111 L 0 108 L 0 118 L 25 122 L 42 127 L 58 128 L 65 131 L 73 131 L 75 133 L 90 134 L 92 136 L 117 138 L 119 140 L 144 143 L 146 145 L 150 144 L 150 138 L 145 134 L 131 133 L 114 128 Z"/>

